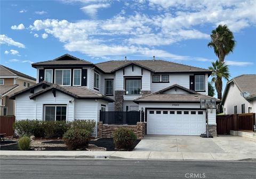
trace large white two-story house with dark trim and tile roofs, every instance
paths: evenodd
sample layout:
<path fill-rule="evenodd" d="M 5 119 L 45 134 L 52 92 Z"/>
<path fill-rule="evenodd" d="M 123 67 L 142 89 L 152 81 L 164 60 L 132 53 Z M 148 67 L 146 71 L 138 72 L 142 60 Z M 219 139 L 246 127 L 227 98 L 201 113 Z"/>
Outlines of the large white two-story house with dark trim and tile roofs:
<path fill-rule="evenodd" d="M 93 64 L 65 54 L 33 63 L 36 85 L 16 93 L 16 119 L 99 121 L 99 111 L 145 111 L 148 134 L 200 135 L 211 71 L 163 60 Z M 216 135 L 215 109 L 209 112 Z M 61 115 L 60 115 L 61 114 Z"/>

